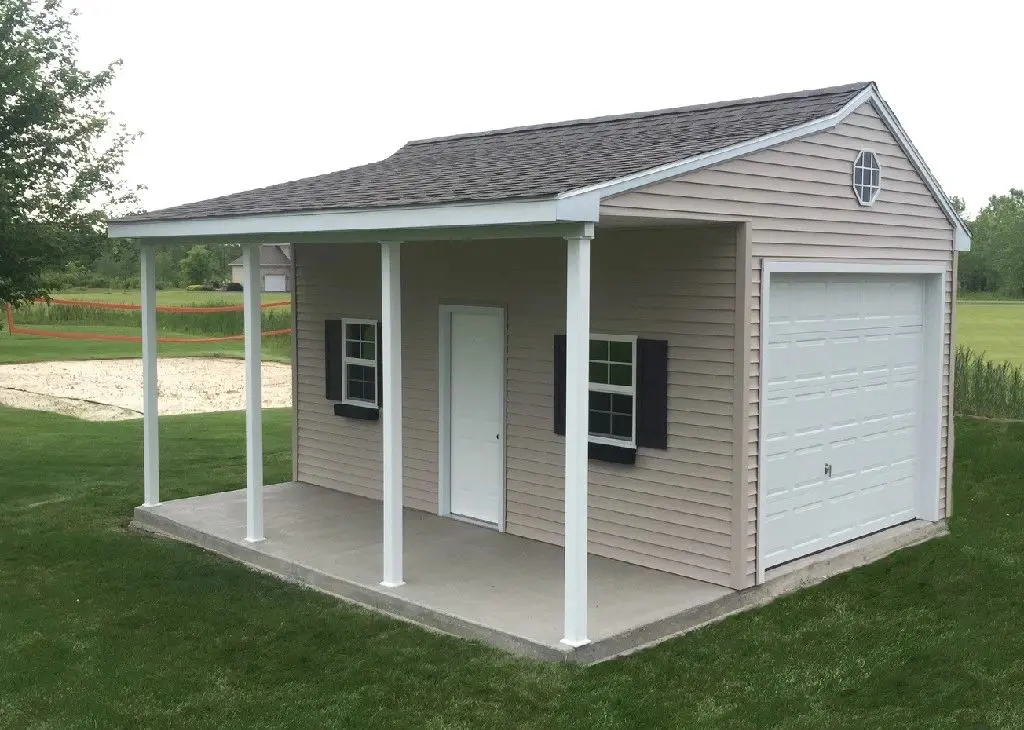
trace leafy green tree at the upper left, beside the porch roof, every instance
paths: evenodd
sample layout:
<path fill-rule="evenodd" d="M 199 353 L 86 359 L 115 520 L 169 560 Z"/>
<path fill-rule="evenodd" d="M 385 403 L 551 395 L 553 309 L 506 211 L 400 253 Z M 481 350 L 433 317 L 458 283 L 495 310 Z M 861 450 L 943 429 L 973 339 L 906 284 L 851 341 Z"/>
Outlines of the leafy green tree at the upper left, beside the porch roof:
<path fill-rule="evenodd" d="M 108 214 L 135 190 L 119 173 L 134 139 L 103 92 L 120 67 L 79 68 L 61 0 L 0 0 L 0 302 L 48 294 L 42 274 L 91 261 Z"/>

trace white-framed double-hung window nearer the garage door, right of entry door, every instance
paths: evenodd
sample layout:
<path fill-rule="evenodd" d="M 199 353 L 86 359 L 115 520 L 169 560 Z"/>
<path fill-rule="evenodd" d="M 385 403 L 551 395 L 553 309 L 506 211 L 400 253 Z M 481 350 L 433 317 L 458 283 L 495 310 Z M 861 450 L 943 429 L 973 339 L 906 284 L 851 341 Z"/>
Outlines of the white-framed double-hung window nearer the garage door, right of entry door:
<path fill-rule="evenodd" d="M 637 338 L 594 335 L 590 340 L 592 443 L 636 446 Z"/>

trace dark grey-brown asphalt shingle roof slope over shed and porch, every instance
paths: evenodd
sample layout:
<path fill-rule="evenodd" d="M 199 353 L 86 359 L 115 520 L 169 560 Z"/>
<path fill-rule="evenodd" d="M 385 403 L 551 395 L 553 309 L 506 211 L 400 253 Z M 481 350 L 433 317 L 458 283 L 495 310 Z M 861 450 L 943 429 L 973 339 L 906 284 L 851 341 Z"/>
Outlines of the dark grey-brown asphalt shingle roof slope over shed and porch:
<path fill-rule="evenodd" d="M 826 117 L 867 86 L 423 139 L 369 165 L 123 220 L 553 198 Z"/>

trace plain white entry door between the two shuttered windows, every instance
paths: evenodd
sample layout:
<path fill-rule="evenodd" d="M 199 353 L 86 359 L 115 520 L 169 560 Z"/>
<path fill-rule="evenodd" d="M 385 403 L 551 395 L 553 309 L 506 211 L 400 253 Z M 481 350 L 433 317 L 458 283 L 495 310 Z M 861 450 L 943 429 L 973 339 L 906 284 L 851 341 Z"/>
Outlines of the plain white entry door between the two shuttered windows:
<path fill-rule="evenodd" d="M 505 507 L 504 312 L 486 307 L 446 311 L 451 317 L 450 511 L 501 525 Z"/>

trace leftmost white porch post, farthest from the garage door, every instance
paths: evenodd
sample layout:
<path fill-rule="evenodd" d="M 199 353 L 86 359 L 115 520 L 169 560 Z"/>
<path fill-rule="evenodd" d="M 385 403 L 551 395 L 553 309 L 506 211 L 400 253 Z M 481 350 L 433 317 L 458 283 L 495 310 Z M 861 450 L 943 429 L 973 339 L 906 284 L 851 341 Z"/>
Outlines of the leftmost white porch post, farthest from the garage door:
<path fill-rule="evenodd" d="M 160 416 L 157 402 L 157 247 L 143 243 L 142 290 L 142 506 L 160 504 Z"/>

